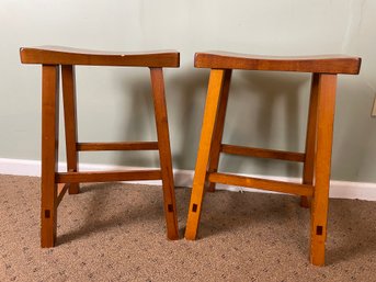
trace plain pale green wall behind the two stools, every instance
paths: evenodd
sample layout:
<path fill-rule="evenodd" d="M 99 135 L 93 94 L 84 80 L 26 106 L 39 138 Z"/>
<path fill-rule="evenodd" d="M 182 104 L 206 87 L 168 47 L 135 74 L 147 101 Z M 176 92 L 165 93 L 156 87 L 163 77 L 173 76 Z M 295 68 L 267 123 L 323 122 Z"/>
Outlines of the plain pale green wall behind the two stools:
<path fill-rule="evenodd" d="M 193 169 L 207 70 L 196 50 L 250 54 L 350 54 L 360 76 L 341 76 L 332 178 L 376 182 L 376 1 L 374 0 L 0 0 L 0 157 L 39 159 L 41 69 L 21 65 L 20 46 L 107 50 L 175 48 L 181 68 L 166 70 L 173 163 Z M 78 68 L 80 140 L 152 139 L 147 69 Z M 309 77 L 236 71 L 225 140 L 301 150 Z M 64 159 L 61 153 L 61 159 Z M 96 154 L 84 162 L 157 166 L 153 153 Z M 293 163 L 225 157 L 247 173 L 297 176 Z"/>

